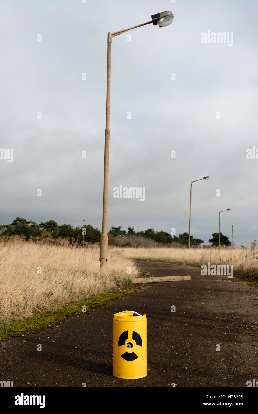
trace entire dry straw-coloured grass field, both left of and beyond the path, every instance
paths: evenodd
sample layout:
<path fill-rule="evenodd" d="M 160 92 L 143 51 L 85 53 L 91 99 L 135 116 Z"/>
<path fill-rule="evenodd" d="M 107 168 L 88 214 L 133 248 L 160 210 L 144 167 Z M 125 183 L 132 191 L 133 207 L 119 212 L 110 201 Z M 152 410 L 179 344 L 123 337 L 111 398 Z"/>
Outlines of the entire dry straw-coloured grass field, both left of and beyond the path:
<path fill-rule="evenodd" d="M 202 265 L 229 264 L 234 272 L 258 272 L 251 248 L 121 248 L 109 246 L 108 271 L 99 270 L 99 246 L 0 242 L 0 318 L 33 315 L 110 290 L 139 273 L 133 259 Z M 128 266 L 131 274 L 127 274 Z M 40 269 L 41 267 L 41 269 Z"/>

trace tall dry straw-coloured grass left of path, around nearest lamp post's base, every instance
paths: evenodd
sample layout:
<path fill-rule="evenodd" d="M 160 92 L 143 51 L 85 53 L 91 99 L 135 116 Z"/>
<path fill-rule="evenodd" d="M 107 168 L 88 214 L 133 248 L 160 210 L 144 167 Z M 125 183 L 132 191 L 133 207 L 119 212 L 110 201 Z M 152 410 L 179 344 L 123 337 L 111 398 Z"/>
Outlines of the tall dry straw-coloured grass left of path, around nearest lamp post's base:
<path fill-rule="evenodd" d="M 51 246 L 16 236 L 0 244 L 0 317 L 31 315 L 79 301 L 137 273 L 133 261 L 117 250 L 109 250 L 108 271 L 100 272 L 96 245 Z"/>

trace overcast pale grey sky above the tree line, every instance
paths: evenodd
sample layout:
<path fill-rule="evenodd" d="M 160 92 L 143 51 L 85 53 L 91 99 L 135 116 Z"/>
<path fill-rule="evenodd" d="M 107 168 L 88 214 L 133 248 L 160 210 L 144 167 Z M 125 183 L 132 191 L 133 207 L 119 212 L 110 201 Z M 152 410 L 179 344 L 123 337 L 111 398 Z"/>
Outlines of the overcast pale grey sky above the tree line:
<path fill-rule="evenodd" d="M 101 229 L 107 33 L 163 10 L 171 25 L 112 39 L 108 230 L 188 231 L 190 182 L 208 175 L 193 183 L 191 234 L 208 243 L 231 208 L 222 233 L 258 240 L 258 159 L 246 159 L 258 149 L 258 4 L 238 0 L 2 0 L 0 148 L 13 161 L 0 159 L 0 224 Z M 202 43 L 208 31 L 230 41 Z M 114 198 L 119 185 L 145 187 L 145 200 Z"/>

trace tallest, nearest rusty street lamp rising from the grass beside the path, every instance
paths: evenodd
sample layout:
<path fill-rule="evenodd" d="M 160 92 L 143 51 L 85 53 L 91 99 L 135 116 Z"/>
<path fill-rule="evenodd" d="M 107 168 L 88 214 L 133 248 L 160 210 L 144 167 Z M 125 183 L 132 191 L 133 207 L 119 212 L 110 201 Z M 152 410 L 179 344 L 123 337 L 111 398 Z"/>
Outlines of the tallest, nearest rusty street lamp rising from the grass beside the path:
<path fill-rule="evenodd" d="M 159 27 L 168 26 L 174 20 L 172 12 L 165 11 L 151 16 L 151 21 L 147 23 L 138 24 L 137 26 L 129 27 L 115 31 L 108 32 L 108 69 L 107 69 L 107 100 L 106 100 L 106 129 L 105 129 L 105 157 L 104 157 L 104 186 L 103 186 L 103 217 L 102 217 L 102 234 L 100 235 L 100 269 L 107 268 L 108 260 L 108 234 L 107 234 L 107 220 L 108 220 L 108 158 L 109 158 L 109 117 L 110 117 L 110 70 L 111 70 L 111 41 L 112 37 L 125 33 L 126 31 L 135 29 L 136 27 L 145 26 L 153 23 Z"/>

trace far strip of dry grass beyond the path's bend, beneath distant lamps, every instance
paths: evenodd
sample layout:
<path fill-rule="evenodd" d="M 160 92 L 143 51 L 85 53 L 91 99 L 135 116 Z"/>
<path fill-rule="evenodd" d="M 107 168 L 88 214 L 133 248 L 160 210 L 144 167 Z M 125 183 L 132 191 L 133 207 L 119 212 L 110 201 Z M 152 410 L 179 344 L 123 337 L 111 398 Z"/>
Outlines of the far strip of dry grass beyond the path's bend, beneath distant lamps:
<path fill-rule="evenodd" d="M 127 258 L 196 265 L 229 264 L 233 271 L 258 270 L 258 252 L 251 248 L 117 248 Z"/>

